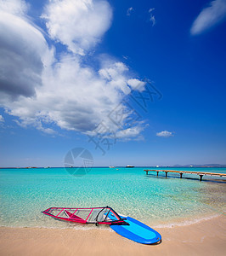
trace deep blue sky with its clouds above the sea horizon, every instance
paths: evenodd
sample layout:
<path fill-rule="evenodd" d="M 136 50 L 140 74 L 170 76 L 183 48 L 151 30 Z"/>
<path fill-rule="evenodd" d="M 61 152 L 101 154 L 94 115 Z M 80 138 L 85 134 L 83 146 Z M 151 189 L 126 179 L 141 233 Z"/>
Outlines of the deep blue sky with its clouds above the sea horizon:
<path fill-rule="evenodd" d="M 226 164 L 225 0 L 0 7 L 0 166 Z"/>

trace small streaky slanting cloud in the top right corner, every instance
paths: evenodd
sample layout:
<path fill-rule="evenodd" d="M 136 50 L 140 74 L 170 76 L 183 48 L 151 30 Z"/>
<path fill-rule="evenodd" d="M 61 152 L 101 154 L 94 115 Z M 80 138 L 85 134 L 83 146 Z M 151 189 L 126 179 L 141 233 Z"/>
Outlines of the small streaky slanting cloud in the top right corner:
<path fill-rule="evenodd" d="M 202 9 L 200 15 L 193 22 L 190 32 L 192 35 L 201 34 L 225 19 L 226 0 L 212 1 L 208 7 Z"/>

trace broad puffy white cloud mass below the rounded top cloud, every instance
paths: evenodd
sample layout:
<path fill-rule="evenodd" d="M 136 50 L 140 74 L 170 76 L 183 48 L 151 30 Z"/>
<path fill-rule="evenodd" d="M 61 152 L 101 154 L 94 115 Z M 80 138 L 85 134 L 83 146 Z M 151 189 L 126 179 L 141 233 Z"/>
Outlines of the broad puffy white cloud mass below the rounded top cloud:
<path fill-rule="evenodd" d="M 20 97 L 20 101 L 8 103 L 8 113 L 19 116 L 20 125 L 34 125 L 40 131 L 49 132 L 44 127 L 55 124 L 86 133 L 103 119 L 116 131 L 106 116 L 130 90 L 124 74 L 127 69 L 116 62 L 95 73 L 91 67 L 82 67 L 75 57 L 63 56 L 43 74 L 43 86 L 37 89 L 36 97 Z"/>

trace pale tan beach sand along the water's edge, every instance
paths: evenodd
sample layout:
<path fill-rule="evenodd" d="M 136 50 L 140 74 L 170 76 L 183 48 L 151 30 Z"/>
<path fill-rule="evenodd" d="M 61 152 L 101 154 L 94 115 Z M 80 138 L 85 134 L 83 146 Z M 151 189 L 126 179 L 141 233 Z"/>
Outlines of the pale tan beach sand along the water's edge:
<path fill-rule="evenodd" d="M 226 216 L 158 228 L 162 242 L 142 245 L 109 230 L 0 228 L 0 255 L 226 255 Z"/>

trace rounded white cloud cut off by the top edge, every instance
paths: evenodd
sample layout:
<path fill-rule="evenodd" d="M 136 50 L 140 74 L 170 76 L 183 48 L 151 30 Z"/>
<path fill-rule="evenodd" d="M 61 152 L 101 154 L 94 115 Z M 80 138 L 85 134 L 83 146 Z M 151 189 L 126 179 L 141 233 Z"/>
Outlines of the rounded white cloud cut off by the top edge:
<path fill-rule="evenodd" d="M 46 6 L 42 18 L 47 20 L 51 38 L 73 53 L 85 55 L 109 29 L 112 10 L 104 0 L 54 0 Z"/>

